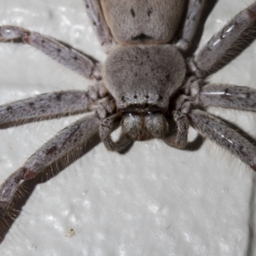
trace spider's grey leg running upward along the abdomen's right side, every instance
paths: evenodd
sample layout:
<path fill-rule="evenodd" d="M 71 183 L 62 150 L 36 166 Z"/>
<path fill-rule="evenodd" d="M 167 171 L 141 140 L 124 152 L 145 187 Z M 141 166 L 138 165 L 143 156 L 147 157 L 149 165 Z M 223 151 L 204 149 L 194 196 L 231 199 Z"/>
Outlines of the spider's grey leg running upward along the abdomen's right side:
<path fill-rule="evenodd" d="M 180 51 L 187 51 L 195 35 L 198 22 L 201 18 L 205 0 L 189 0 L 186 20 L 182 28 L 180 40 L 176 46 Z"/>

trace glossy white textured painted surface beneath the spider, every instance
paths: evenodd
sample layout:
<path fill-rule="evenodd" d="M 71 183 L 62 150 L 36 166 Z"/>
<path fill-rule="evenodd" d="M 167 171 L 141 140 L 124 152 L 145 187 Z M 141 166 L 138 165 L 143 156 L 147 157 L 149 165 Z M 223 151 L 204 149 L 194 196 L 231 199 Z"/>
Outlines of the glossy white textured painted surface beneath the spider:
<path fill-rule="evenodd" d="M 246 3 L 219 1 L 200 45 Z M 54 36 L 103 61 L 84 9 L 82 0 L 1 0 L 0 24 Z M 256 88 L 255 47 L 211 81 Z M 28 45 L 1 44 L 0 59 L 0 104 L 92 84 Z M 211 112 L 255 137 L 255 114 Z M 0 182 L 76 119 L 1 130 Z M 189 136 L 195 137 L 192 129 Z M 125 155 L 107 152 L 100 143 L 36 186 L 0 244 L 0 255 L 254 255 L 248 238 L 255 234 L 254 183 L 255 173 L 209 141 L 194 152 L 161 140 L 137 142 Z"/>

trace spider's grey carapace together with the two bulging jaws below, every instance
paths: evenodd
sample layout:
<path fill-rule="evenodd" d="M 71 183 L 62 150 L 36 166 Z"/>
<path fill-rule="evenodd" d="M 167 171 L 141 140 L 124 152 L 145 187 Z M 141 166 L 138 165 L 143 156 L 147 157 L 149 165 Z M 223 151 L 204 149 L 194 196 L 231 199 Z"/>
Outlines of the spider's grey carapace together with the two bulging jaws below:
<path fill-rule="evenodd" d="M 133 140 L 163 138 L 170 99 L 182 86 L 185 64 L 172 45 L 127 45 L 111 52 L 103 81 L 122 112 L 122 131 Z"/>

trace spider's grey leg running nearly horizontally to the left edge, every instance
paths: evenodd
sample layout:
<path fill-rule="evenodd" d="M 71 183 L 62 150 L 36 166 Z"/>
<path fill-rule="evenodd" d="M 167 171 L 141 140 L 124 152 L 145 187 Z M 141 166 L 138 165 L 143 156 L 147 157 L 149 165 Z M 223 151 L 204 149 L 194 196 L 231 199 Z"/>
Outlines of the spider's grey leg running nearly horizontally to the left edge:
<path fill-rule="evenodd" d="M 58 118 L 92 111 L 97 100 L 106 97 L 107 93 L 102 84 L 96 84 L 91 86 L 88 92 L 72 90 L 44 93 L 11 102 L 0 106 L 0 128 L 32 120 Z"/>

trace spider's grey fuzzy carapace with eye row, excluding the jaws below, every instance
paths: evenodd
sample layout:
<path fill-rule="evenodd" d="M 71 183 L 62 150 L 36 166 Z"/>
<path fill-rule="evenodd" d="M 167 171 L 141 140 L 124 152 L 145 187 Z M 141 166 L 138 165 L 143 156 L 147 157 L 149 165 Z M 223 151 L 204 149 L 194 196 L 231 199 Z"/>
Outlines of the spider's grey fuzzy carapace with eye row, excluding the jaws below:
<path fill-rule="evenodd" d="M 109 54 L 102 78 L 117 109 L 147 113 L 168 109 L 185 74 L 184 58 L 173 45 L 127 45 Z"/>

